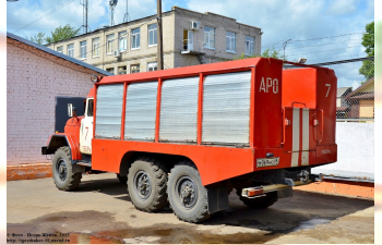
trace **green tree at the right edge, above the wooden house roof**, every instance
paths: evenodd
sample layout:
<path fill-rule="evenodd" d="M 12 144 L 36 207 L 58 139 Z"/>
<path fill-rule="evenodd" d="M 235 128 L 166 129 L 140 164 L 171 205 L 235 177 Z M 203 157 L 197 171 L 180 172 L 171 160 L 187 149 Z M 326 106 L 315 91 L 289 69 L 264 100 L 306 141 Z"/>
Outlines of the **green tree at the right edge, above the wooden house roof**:
<path fill-rule="evenodd" d="M 368 57 L 374 57 L 374 22 L 366 25 L 366 33 L 362 37 L 362 45 Z M 366 81 L 374 76 L 374 60 L 365 60 L 359 69 L 359 74 L 363 75 Z"/>

